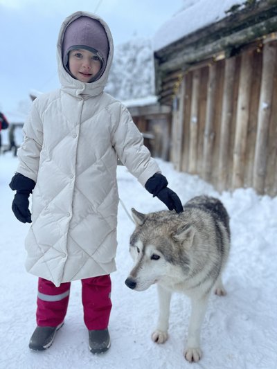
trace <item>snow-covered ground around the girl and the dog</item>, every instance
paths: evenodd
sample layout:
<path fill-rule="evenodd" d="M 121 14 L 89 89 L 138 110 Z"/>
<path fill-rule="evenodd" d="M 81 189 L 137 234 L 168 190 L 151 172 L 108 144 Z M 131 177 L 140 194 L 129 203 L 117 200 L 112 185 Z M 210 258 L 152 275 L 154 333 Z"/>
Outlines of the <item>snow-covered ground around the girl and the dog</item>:
<path fill-rule="evenodd" d="M 28 225 L 18 222 L 10 210 L 13 193 L 8 183 L 17 158 L 6 154 L 0 156 L 0 369 L 277 368 L 277 197 L 258 197 L 250 189 L 219 195 L 197 177 L 176 172 L 170 163 L 159 164 L 183 202 L 202 193 L 216 195 L 231 215 L 232 249 L 223 276 L 228 295 L 211 296 L 202 327 L 203 359 L 190 364 L 182 355 L 190 316 L 186 296 L 176 294 L 172 299 L 169 340 L 164 345 L 152 343 L 156 288 L 136 292 L 125 287 L 132 266 L 128 240 L 134 225 L 122 206 L 118 209 L 118 271 L 112 274 L 110 350 L 102 356 L 89 352 L 80 282 L 73 282 L 66 321 L 53 346 L 45 352 L 30 352 L 37 278 L 24 269 Z M 118 167 L 118 186 L 128 209 L 148 213 L 164 208 L 123 167 Z"/>

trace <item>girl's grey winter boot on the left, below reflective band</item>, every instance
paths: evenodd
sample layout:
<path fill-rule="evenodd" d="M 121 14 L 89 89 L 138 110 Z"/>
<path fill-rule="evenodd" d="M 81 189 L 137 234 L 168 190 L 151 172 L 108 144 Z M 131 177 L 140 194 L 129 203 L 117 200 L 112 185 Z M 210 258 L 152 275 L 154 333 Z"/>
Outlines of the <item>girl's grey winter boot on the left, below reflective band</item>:
<path fill-rule="evenodd" d="M 35 351 L 42 351 L 46 350 L 46 348 L 50 348 L 55 339 L 56 332 L 60 330 L 63 324 L 64 322 L 57 327 L 39 327 L 37 325 L 30 338 L 29 348 Z"/>

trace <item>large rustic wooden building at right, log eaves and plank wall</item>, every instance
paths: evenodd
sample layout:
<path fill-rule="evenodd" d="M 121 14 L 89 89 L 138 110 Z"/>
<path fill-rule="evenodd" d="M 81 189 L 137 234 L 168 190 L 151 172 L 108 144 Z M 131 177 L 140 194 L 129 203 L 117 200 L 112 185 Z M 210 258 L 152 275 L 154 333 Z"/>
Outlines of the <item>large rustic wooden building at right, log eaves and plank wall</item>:
<path fill-rule="evenodd" d="M 245 1 L 154 59 L 175 168 L 277 195 L 277 1 Z"/>

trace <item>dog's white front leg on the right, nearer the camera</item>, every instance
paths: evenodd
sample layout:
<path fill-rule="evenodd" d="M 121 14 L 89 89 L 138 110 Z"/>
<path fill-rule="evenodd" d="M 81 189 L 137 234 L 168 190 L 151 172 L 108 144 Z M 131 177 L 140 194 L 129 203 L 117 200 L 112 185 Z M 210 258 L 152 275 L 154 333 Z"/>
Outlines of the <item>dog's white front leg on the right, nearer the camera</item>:
<path fill-rule="evenodd" d="M 200 331 L 204 321 L 207 304 L 208 296 L 191 299 L 191 316 L 190 325 L 188 327 L 188 340 L 184 350 L 184 357 L 190 362 L 199 361 L 202 356 L 202 351 L 200 349 Z"/>

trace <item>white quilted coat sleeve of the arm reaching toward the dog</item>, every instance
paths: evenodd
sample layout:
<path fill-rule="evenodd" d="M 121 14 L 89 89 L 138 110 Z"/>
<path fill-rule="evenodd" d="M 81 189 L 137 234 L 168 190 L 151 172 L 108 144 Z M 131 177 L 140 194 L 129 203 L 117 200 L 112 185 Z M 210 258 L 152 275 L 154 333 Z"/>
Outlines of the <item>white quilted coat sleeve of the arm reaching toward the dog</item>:
<path fill-rule="evenodd" d="M 123 165 L 145 186 L 150 177 L 161 172 L 159 165 L 143 145 L 143 135 L 134 124 L 127 108 L 120 105 L 120 113 L 115 116 L 118 119 L 114 125 L 112 145 Z"/>

